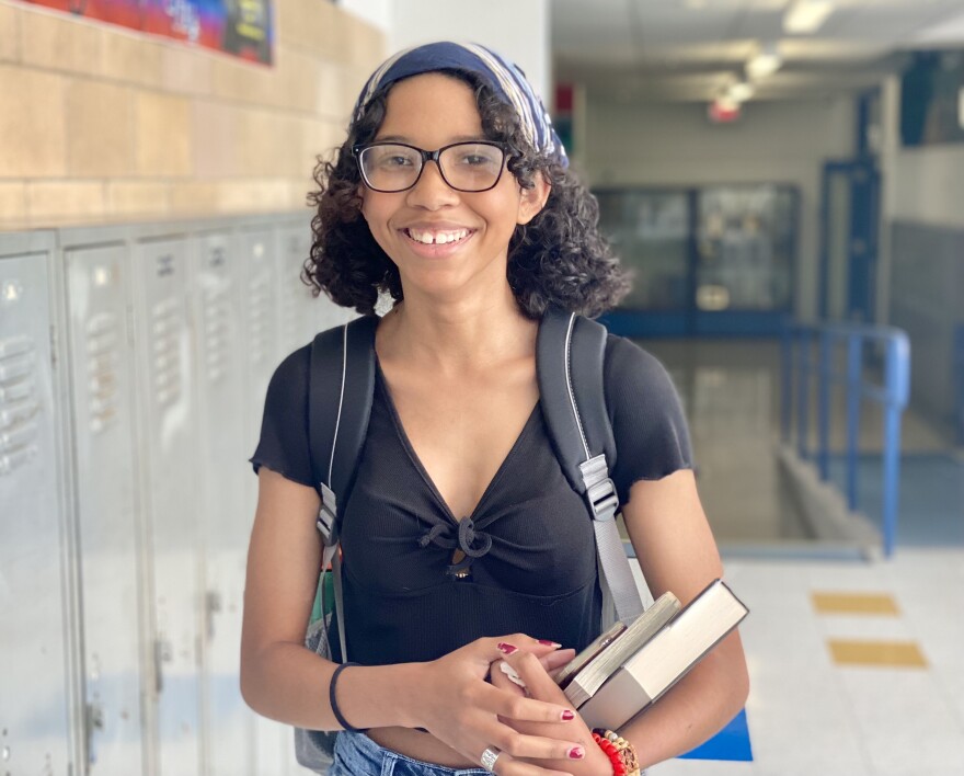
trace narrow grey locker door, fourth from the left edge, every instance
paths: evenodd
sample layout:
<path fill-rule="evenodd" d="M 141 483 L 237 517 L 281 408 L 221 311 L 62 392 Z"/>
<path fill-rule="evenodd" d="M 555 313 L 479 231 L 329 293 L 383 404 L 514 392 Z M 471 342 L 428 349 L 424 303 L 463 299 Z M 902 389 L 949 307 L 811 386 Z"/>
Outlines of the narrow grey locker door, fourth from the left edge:
<path fill-rule="evenodd" d="M 246 463 L 241 360 L 240 258 L 231 238 L 209 233 L 194 251 L 193 305 L 197 321 L 197 449 L 203 481 L 204 548 L 204 743 L 205 773 L 251 773 L 254 755 L 252 712 L 239 686 L 241 613 L 248 521 L 244 486 L 254 476 Z"/>

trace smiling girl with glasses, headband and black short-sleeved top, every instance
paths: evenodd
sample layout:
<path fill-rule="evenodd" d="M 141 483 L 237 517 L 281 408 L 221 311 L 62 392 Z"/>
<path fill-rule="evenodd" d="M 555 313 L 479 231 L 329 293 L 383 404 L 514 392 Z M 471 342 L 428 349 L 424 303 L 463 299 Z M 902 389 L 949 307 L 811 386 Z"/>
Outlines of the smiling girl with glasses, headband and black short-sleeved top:
<path fill-rule="evenodd" d="M 551 678 L 598 635 L 601 604 L 593 529 L 547 436 L 535 362 L 548 306 L 595 316 L 626 292 L 595 201 L 523 73 L 454 43 L 379 67 L 315 179 L 310 282 L 362 313 L 393 300 L 376 333 L 356 482 L 340 504 L 354 662 L 302 646 L 322 549 L 305 347 L 272 379 L 252 458 L 246 701 L 344 730 L 337 776 L 618 772 Z M 652 356 L 616 336 L 605 392 L 632 544 L 652 593 L 685 604 L 722 569 L 678 398 Z M 527 694 L 492 670 L 502 661 Z M 620 756 L 645 767 L 679 754 L 746 694 L 734 632 L 619 731 Z"/>

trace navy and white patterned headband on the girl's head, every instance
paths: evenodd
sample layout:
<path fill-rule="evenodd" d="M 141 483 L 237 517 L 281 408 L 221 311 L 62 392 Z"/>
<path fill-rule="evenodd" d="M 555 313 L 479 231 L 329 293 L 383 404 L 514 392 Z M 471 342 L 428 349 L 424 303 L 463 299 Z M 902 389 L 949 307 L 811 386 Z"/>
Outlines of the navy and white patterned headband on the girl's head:
<path fill-rule="evenodd" d="M 495 52 L 478 44 L 428 43 L 399 52 L 371 73 L 355 103 L 354 121 L 362 117 L 380 88 L 410 76 L 445 69 L 467 70 L 482 78 L 519 116 L 523 132 L 536 151 L 555 157 L 563 167 L 569 166 L 549 113 L 526 75 Z"/>

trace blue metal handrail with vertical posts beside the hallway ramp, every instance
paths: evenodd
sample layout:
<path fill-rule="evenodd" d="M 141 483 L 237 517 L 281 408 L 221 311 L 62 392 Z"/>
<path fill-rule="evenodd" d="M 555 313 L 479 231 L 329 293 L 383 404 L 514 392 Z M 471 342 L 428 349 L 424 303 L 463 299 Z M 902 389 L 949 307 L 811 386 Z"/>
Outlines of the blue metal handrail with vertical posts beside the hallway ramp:
<path fill-rule="evenodd" d="M 875 345 L 871 350 L 869 345 Z M 880 369 L 864 368 L 868 356 L 883 356 Z M 782 347 L 783 442 L 793 444 L 801 458 L 811 457 L 811 389 L 816 390 L 816 464 L 820 479 L 830 476 L 831 388 L 846 391 L 846 495 L 847 505 L 859 509 L 857 454 L 860 436 L 861 401 L 879 403 L 883 411 L 883 540 L 884 555 L 894 551 L 897 533 L 898 484 L 900 478 L 900 415 L 910 392 L 910 344 L 907 334 L 892 327 L 856 323 L 790 323 Z M 795 378 L 795 379 L 794 379 Z M 793 423 L 795 400 L 796 423 Z"/>

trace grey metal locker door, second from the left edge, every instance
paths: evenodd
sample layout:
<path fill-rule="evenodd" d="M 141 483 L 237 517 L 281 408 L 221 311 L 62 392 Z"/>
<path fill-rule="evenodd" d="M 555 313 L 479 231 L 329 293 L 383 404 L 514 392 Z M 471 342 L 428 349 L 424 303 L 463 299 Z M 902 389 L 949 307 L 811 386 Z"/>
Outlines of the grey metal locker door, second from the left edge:
<path fill-rule="evenodd" d="M 140 526 L 125 258 L 119 246 L 64 253 L 85 756 L 92 776 L 128 776 L 144 764 Z"/>

